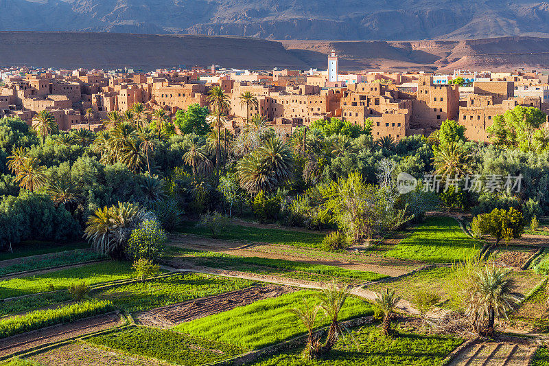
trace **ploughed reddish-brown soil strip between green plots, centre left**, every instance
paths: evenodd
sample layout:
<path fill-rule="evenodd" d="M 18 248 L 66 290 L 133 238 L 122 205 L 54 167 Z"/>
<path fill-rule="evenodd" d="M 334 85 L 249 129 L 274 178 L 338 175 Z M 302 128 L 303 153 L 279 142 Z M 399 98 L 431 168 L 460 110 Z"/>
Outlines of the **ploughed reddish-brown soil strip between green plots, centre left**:
<path fill-rule="evenodd" d="M 252 304 L 261 299 L 278 297 L 285 293 L 292 293 L 296 288 L 268 284 L 266 286 L 253 286 L 242 290 L 231 291 L 221 295 L 202 297 L 186 301 L 180 304 L 163 306 L 146 312 L 135 314 L 135 319 L 143 324 L 157 328 L 170 328 L 185 321 L 191 321 L 211 314 L 218 314 Z"/>

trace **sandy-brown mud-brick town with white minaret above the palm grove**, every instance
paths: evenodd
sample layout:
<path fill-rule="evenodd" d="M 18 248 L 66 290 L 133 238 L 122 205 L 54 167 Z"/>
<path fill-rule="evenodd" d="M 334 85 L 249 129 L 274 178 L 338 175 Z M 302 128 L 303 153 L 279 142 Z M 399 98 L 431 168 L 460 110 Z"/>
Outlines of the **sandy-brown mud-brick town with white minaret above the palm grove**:
<path fill-rule="evenodd" d="M 548 78 L 524 69 L 353 73 L 338 69 L 335 52 L 328 57 L 327 70 L 307 71 L 215 65 L 152 72 L 3 67 L 0 117 L 19 117 L 32 124 L 36 113 L 47 110 L 60 130 L 90 126 L 97 131 L 109 112 L 128 111 L 136 103 L 150 111 L 163 109 L 168 116 L 191 104 L 207 106 L 210 89 L 220 86 L 229 95 L 224 127 L 231 132 L 255 114 L 287 136 L 318 119 L 336 117 L 360 126 L 368 122 L 374 139 L 399 141 L 408 135 L 429 135 L 453 119 L 465 126 L 467 139 L 489 141 L 486 130 L 495 115 L 517 105 L 549 113 Z M 241 102 L 239 97 L 246 92 L 255 95 L 257 105 Z"/>

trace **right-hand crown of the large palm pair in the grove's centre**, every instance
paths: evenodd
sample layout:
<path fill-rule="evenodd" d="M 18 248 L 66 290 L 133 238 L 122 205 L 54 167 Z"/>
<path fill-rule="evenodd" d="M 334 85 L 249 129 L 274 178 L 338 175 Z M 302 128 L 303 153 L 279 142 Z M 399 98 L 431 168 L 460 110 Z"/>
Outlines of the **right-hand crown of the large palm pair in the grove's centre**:
<path fill-rule="evenodd" d="M 277 184 L 281 185 L 292 178 L 294 157 L 287 144 L 279 139 L 268 139 L 264 146 L 257 149 L 259 159 L 272 174 Z"/>

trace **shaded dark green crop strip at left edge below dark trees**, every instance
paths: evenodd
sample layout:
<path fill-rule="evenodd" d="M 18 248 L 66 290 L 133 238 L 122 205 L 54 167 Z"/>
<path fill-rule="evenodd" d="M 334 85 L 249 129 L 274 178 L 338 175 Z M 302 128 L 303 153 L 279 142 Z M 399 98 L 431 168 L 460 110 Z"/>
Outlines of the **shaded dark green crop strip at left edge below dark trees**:
<path fill-rule="evenodd" d="M 101 258 L 106 257 L 93 251 L 68 251 L 55 253 L 48 255 L 46 258 L 29 258 L 21 263 L 2 267 L 0 268 L 0 275 L 8 275 L 10 273 L 23 271 L 34 271 L 55 266 L 68 266 L 70 264 L 87 262 L 89 260 L 99 260 Z"/>

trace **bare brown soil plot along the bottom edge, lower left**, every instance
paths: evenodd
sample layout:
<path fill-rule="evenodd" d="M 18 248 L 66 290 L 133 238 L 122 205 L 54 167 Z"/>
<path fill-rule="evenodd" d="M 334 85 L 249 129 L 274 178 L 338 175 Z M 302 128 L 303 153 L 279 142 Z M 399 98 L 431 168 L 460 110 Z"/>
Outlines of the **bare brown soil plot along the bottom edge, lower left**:
<path fill-rule="evenodd" d="M 28 358 L 48 366 L 167 366 L 152 358 L 102 350 L 88 343 L 71 343 Z"/>

